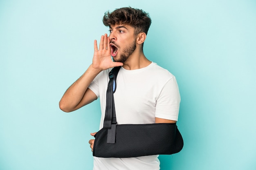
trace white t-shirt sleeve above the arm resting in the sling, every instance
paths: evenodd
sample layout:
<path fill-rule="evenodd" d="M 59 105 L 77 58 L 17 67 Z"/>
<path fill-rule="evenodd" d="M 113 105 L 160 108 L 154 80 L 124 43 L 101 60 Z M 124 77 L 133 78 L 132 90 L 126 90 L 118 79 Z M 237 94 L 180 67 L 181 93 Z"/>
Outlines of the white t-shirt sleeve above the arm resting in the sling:
<path fill-rule="evenodd" d="M 155 117 L 168 120 L 178 120 L 180 109 L 180 92 L 175 77 L 172 77 L 162 88 L 157 98 Z"/>

